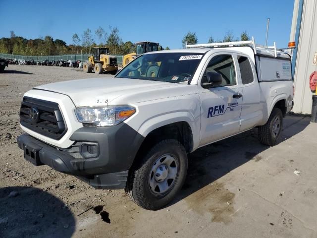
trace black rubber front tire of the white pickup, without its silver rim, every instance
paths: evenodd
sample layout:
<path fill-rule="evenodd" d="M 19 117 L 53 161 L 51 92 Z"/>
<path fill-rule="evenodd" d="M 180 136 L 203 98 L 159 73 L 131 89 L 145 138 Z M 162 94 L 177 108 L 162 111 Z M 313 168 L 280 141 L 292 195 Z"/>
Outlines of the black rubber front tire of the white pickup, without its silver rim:
<path fill-rule="evenodd" d="M 150 188 L 150 175 L 158 159 L 164 155 L 173 155 L 177 164 L 177 175 L 173 186 L 161 195 L 154 194 Z M 130 170 L 127 179 L 126 193 L 140 207 L 147 210 L 158 210 L 171 202 L 182 188 L 187 174 L 187 153 L 177 140 L 166 139 L 154 145 L 143 158 Z"/>

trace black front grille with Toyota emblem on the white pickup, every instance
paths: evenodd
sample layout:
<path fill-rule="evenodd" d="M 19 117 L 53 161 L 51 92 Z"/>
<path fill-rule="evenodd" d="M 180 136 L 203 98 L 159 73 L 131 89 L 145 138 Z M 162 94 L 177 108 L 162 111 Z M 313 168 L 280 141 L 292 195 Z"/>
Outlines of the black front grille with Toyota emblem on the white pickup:
<path fill-rule="evenodd" d="M 67 131 L 58 104 L 24 97 L 20 109 L 21 125 L 52 139 L 60 139 Z"/>

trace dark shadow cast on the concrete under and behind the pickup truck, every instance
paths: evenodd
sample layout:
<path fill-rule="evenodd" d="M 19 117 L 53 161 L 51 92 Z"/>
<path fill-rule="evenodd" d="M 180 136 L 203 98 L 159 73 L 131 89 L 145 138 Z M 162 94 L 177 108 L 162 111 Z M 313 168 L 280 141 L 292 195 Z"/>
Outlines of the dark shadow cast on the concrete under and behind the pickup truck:
<path fill-rule="evenodd" d="M 286 117 L 278 143 L 300 133 L 309 123 L 310 118 L 308 117 Z M 212 193 L 224 189 L 223 187 L 217 187 L 220 184 L 217 185 L 217 179 L 245 163 L 261 161 L 263 158 L 259 154 L 268 148 L 269 146 L 265 146 L 259 142 L 258 129 L 254 128 L 239 135 L 204 146 L 192 154 L 189 154 L 186 181 L 182 190 L 172 203 L 177 203 L 182 199 L 186 200 L 189 195 L 209 184 L 216 186 L 213 190 L 210 189 L 211 191 L 208 192 Z M 203 193 L 204 194 L 197 193 L 193 196 L 196 200 L 191 202 L 198 204 L 200 196 L 203 198 L 206 197 L 205 192 Z M 231 195 L 234 196 L 234 194 Z M 206 199 L 203 202 L 206 203 Z"/>

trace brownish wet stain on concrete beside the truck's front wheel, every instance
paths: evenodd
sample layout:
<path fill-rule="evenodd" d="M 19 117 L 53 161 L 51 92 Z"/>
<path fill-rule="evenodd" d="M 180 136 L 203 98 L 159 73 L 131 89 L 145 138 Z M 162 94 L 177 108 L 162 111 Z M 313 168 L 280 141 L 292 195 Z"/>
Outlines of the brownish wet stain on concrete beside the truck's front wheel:
<path fill-rule="evenodd" d="M 211 183 L 185 198 L 190 209 L 199 214 L 211 213 L 211 222 L 231 222 L 234 214 L 235 194 L 224 188 L 223 183 Z"/>

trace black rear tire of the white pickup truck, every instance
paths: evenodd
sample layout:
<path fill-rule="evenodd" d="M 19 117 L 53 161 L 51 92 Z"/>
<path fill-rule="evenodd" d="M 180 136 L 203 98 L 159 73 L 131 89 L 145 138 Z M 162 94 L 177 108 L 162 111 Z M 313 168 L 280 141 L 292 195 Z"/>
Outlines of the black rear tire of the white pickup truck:
<path fill-rule="evenodd" d="M 279 125 L 274 127 L 274 121 L 279 120 Z M 274 130 L 275 128 L 275 130 Z M 278 108 L 273 108 L 267 122 L 259 126 L 259 140 L 264 145 L 275 145 L 283 128 L 283 114 Z"/>

